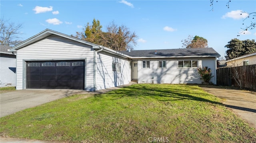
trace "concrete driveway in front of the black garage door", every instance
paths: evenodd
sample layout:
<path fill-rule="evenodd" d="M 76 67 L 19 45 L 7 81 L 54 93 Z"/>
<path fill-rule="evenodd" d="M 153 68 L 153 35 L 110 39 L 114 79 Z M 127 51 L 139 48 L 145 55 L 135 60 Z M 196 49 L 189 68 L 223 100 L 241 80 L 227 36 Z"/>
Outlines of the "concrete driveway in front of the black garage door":
<path fill-rule="evenodd" d="M 26 89 L 0 94 L 0 117 L 38 106 L 73 94 L 88 94 L 83 90 Z"/>

